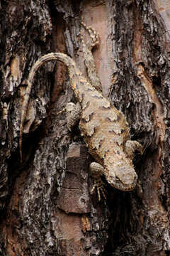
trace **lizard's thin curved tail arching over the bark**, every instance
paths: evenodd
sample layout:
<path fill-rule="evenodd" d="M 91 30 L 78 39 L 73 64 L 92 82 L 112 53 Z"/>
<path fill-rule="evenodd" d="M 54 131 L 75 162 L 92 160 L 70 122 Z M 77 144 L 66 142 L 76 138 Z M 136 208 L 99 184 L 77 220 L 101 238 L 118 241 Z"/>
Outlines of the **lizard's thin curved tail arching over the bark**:
<path fill-rule="evenodd" d="M 21 124 L 20 124 L 20 137 L 19 137 L 19 148 L 20 148 L 20 160 L 21 162 L 23 161 L 23 154 L 22 154 L 22 142 L 23 142 L 23 124 L 24 121 L 26 119 L 26 113 L 27 113 L 27 109 L 28 109 L 28 100 L 30 97 L 30 91 L 31 91 L 31 87 L 33 84 L 33 78 L 34 75 L 36 73 L 36 71 L 38 70 L 38 68 L 40 68 L 40 66 L 43 63 L 46 63 L 47 61 L 50 60 L 60 60 L 62 63 L 64 63 L 65 65 L 67 65 L 67 67 L 75 67 L 75 63 L 74 60 L 72 60 L 72 58 L 70 58 L 69 56 L 67 56 L 64 53 L 48 53 L 44 56 L 42 56 L 41 58 L 39 58 L 35 64 L 33 65 L 33 67 L 30 70 L 30 73 L 28 75 L 28 80 L 27 80 L 27 88 L 26 88 L 26 92 L 24 95 L 24 100 L 23 100 L 23 107 L 21 110 Z"/>

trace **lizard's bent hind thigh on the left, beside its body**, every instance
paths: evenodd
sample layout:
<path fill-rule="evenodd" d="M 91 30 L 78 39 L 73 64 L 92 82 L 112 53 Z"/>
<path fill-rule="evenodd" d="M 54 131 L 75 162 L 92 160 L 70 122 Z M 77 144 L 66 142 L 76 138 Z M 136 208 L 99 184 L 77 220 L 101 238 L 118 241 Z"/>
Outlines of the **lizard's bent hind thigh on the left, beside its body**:
<path fill-rule="evenodd" d="M 77 104 L 74 104 L 73 102 L 67 103 L 66 118 L 69 131 L 72 131 L 72 128 L 78 124 L 81 117 L 81 111 L 82 110 L 79 102 Z"/>

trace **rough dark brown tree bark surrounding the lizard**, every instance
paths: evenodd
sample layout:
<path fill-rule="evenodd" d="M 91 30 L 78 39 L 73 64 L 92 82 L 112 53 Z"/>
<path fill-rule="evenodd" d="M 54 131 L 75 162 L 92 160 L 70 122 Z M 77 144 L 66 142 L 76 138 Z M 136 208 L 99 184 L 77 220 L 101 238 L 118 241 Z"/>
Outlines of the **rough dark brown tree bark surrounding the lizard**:
<path fill-rule="evenodd" d="M 170 4 L 161 0 L 0 1 L 0 255 L 169 255 Z M 132 192 L 90 194 L 89 156 L 65 114 L 74 101 L 67 68 L 35 77 L 23 136 L 18 134 L 30 67 L 67 53 L 86 75 L 80 22 L 98 31 L 94 51 L 103 94 L 125 113 L 136 156 Z"/>

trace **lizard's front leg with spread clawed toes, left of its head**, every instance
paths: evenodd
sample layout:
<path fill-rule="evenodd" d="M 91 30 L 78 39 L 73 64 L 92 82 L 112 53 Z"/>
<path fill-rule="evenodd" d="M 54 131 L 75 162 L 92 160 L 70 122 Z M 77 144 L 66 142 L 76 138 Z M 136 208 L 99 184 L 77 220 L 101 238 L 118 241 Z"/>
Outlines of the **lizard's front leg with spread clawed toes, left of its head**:
<path fill-rule="evenodd" d="M 90 164 L 90 171 L 91 175 L 94 177 L 94 186 L 91 189 L 91 193 L 94 192 L 94 189 L 97 188 L 98 193 L 98 201 L 101 201 L 101 193 L 103 195 L 103 198 L 106 199 L 106 188 L 105 183 L 101 180 L 101 176 L 103 175 L 104 168 L 101 166 L 101 164 L 98 164 L 96 162 L 92 162 Z"/>

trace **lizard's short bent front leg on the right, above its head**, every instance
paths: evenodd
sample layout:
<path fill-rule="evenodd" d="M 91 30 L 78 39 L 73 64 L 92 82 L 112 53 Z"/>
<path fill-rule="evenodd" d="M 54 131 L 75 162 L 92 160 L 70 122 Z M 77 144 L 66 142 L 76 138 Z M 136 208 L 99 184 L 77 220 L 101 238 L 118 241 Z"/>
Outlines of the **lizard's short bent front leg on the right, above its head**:
<path fill-rule="evenodd" d="M 128 140 L 125 144 L 125 151 L 130 159 L 133 159 L 136 150 L 143 154 L 143 147 L 139 142 Z"/>

